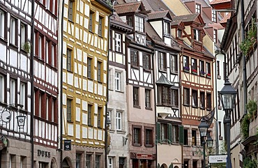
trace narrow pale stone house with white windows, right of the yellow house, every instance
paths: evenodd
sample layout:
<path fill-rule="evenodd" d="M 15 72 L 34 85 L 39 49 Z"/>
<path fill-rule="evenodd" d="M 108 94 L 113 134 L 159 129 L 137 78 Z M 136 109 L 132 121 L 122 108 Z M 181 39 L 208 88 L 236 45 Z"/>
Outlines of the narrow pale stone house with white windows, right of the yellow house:
<path fill-rule="evenodd" d="M 111 141 L 108 167 L 130 167 L 128 146 L 128 113 L 126 99 L 126 33 L 132 31 L 115 12 L 110 17 L 109 91 L 107 118 L 110 119 Z"/>

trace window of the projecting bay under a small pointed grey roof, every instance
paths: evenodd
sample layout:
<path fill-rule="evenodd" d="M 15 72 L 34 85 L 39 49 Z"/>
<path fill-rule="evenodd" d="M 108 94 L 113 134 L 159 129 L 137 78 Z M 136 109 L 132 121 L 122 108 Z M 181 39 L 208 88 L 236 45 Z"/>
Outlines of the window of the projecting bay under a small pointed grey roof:
<path fill-rule="evenodd" d="M 158 86 L 158 105 L 169 105 L 169 87 L 170 86 Z"/>

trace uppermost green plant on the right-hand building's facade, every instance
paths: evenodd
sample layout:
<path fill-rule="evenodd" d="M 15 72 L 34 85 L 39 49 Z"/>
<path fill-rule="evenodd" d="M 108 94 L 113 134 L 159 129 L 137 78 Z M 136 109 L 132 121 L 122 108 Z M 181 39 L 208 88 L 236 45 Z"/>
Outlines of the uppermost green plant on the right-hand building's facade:
<path fill-rule="evenodd" d="M 254 20 L 252 20 L 250 29 L 246 33 L 245 40 L 239 45 L 244 55 L 248 55 L 257 43 L 257 27 Z"/>

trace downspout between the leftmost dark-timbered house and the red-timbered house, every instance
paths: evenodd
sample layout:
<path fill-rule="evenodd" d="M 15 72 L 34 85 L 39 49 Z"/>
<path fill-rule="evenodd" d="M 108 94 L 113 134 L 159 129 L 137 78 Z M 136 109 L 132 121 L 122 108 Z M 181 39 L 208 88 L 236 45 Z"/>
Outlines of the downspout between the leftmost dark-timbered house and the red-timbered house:
<path fill-rule="evenodd" d="M 31 1 L 31 168 L 34 167 L 34 8 L 35 8 L 35 0 Z"/>

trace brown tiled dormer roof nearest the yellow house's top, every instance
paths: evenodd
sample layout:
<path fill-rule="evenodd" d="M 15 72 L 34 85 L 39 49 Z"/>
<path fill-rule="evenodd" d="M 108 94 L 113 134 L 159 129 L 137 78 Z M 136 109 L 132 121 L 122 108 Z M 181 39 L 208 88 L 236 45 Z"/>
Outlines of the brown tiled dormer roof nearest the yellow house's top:
<path fill-rule="evenodd" d="M 115 5 L 114 9 L 116 10 L 117 14 L 136 13 L 139 9 L 145 10 L 142 2 L 123 3 L 120 5 Z"/>

